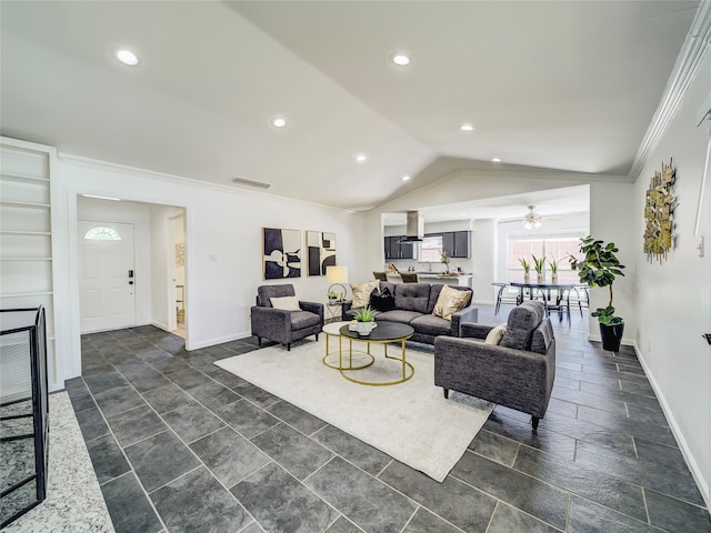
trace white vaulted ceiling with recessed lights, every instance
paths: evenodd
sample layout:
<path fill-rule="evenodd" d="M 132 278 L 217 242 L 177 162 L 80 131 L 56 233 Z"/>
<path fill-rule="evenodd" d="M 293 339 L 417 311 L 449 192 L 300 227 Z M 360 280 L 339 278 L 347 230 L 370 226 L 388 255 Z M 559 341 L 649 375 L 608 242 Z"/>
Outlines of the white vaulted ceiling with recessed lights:
<path fill-rule="evenodd" d="M 698 3 L 2 1 L 1 133 L 353 210 L 435 168 L 625 175 Z"/>

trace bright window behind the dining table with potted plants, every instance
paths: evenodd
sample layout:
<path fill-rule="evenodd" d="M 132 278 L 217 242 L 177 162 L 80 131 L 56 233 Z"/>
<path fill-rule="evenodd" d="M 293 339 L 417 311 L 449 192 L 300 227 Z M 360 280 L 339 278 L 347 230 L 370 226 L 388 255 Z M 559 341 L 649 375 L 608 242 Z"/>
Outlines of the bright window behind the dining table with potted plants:
<path fill-rule="evenodd" d="M 535 271 L 533 270 L 531 258 L 531 255 L 535 255 L 537 258 L 545 258 L 543 274 L 548 281 L 550 281 L 551 270 L 549 262 L 558 261 L 558 282 L 580 283 L 578 272 L 570 269 L 568 258 L 573 255 L 582 259 L 579 251 L 581 237 L 584 237 L 583 232 L 575 232 L 574 235 L 509 235 L 507 249 L 507 275 L 509 281 L 523 280 L 523 266 L 521 266 L 520 259 L 525 259 L 531 263 L 532 280 L 535 281 Z"/>

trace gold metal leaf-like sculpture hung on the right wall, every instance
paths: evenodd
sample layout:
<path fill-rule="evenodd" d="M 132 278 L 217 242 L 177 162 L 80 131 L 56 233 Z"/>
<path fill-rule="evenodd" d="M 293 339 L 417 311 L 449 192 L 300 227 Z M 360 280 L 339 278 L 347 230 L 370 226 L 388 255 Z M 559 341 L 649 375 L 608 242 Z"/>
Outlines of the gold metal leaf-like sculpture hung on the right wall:
<path fill-rule="evenodd" d="M 674 247 L 674 209 L 677 197 L 673 194 L 677 182 L 677 169 L 662 163 L 661 172 L 654 172 L 650 180 L 644 201 L 644 253 L 651 263 L 657 259 L 661 264 Z"/>

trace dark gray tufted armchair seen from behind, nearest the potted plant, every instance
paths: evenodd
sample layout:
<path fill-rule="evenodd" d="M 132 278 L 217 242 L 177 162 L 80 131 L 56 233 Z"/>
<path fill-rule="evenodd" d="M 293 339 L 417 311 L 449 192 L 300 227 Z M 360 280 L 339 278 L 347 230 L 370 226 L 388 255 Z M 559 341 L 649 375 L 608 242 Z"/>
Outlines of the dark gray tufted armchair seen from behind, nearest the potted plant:
<path fill-rule="evenodd" d="M 555 378 L 555 339 L 545 308 L 525 301 L 511 310 L 497 344 L 484 339 L 491 325 L 463 323 L 461 338 L 434 341 L 434 384 L 531 415 L 533 431 L 545 414 Z"/>

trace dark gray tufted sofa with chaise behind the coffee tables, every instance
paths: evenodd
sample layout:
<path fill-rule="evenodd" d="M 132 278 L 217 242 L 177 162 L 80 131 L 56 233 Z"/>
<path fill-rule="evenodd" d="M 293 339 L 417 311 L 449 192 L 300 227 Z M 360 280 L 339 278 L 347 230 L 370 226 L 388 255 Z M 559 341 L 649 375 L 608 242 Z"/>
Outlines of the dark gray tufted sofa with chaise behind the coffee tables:
<path fill-rule="evenodd" d="M 410 340 L 427 344 L 434 344 L 439 335 L 461 336 L 463 322 L 477 322 L 479 310 L 472 306 L 473 291 L 467 286 L 452 289 L 469 291 L 469 302 L 464 309 L 452 314 L 452 320 L 445 320 L 432 314 L 434 304 L 444 286 L 441 283 L 390 283 L 380 282 L 380 290 L 385 288 L 394 295 L 394 309 L 391 311 L 375 311 L 375 321 L 401 322 L 414 329 Z M 352 301 L 343 302 L 342 320 L 353 320 L 360 309 L 352 306 Z"/>

